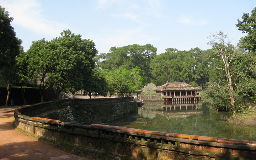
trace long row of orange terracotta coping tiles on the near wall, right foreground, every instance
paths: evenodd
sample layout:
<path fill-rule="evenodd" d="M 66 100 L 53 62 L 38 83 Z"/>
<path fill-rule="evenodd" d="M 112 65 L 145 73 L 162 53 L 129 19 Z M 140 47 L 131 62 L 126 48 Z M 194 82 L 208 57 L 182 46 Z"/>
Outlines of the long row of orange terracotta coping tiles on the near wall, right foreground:
<path fill-rule="evenodd" d="M 165 133 L 165 132 L 157 132 L 157 131 L 151 131 L 151 130 L 133 129 L 133 128 L 126 128 L 126 127 L 118 127 L 118 126 L 108 126 L 108 125 L 103 125 L 103 124 L 91 124 L 91 126 L 98 127 L 98 128 L 106 128 L 106 129 L 117 129 L 117 130 L 135 132 L 135 133 L 162 135 L 162 136 L 167 136 L 167 137 L 177 137 L 177 138 L 185 138 L 185 139 L 206 140 L 206 141 L 218 142 L 218 143 L 242 144 L 242 145 L 256 146 L 256 142 L 249 141 L 249 140 L 206 137 L 206 136 L 199 136 L 199 135 L 188 135 L 188 134 L 177 134 L 177 133 Z"/>

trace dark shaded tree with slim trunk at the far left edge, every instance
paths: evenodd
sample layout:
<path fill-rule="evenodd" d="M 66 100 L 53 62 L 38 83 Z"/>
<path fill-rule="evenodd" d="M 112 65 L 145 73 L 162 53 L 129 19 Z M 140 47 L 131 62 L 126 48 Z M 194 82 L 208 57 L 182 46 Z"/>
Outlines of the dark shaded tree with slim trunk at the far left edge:
<path fill-rule="evenodd" d="M 8 84 L 6 106 L 9 102 L 11 84 L 16 77 L 15 57 L 20 53 L 19 47 L 22 43 L 10 24 L 12 20 L 5 8 L 0 6 L 0 79 Z"/>

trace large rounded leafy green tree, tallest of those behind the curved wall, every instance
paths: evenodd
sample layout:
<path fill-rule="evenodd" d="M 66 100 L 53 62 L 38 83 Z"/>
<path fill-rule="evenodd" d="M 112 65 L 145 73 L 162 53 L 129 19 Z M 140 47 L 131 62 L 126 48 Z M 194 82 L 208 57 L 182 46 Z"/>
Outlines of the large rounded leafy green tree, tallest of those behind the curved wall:
<path fill-rule="evenodd" d="M 56 59 L 53 71 L 49 74 L 56 96 L 60 91 L 74 92 L 82 89 L 84 79 L 87 79 L 94 68 L 97 50 L 95 43 L 82 39 L 70 30 L 64 30 L 61 36 L 54 38 L 49 47 Z M 53 60 L 54 60 L 53 59 Z"/>

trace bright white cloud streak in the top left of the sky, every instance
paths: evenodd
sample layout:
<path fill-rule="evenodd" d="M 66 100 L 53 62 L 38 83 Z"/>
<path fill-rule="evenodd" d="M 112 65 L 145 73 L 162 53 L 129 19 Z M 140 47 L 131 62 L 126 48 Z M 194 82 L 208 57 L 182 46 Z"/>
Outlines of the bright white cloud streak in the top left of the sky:
<path fill-rule="evenodd" d="M 14 17 L 13 23 L 32 32 L 57 36 L 66 28 L 64 24 L 49 21 L 36 0 L 3 0 L 1 5 L 6 8 L 10 17 Z"/>

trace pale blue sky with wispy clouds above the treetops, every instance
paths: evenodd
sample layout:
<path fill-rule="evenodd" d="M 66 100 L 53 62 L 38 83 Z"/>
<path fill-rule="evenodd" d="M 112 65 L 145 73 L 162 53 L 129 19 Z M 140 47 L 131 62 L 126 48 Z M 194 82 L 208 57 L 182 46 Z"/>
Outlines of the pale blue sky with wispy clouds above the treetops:
<path fill-rule="evenodd" d="M 246 33 L 235 26 L 256 0 L 0 0 L 14 20 L 24 51 L 33 41 L 51 41 L 63 30 L 95 42 L 98 53 L 111 47 L 152 44 L 210 49 L 211 34 L 223 31 L 236 44 Z"/>

